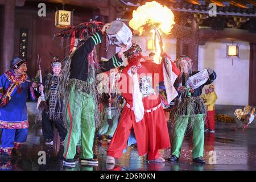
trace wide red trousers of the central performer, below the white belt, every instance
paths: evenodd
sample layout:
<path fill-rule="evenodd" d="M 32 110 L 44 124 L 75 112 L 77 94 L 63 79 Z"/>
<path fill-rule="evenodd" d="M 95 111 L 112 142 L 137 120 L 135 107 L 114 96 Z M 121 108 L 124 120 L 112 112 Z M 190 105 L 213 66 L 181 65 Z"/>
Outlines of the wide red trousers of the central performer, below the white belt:
<path fill-rule="evenodd" d="M 160 156 L 159 149 L 170 147 L 167 122 L 162 107 L 150 113 L 144 113 L 142 121 L 136 122 L 133 111 L 125 106 L 109 145 L 108 155 L 121 158 L 132 128 L 140 156 L 147 154 L 148 160 L 155 160 Z"/>

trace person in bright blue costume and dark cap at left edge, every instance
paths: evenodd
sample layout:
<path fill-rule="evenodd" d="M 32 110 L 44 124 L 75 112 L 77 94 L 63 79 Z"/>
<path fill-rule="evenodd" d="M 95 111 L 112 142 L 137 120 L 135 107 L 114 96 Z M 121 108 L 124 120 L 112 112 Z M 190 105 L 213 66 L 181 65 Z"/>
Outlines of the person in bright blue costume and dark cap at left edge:
<path fill-rule="evenodd" d="M 34 88 L 27 76 L 27 62 L 14 57 L 11 70 L 0 76 L 0 129 L 2 130 L 1 154 L 21 156 L 18 148 L 26 142 L 28 117 L 26 101 L 28 92 L 35 100 Z"/>

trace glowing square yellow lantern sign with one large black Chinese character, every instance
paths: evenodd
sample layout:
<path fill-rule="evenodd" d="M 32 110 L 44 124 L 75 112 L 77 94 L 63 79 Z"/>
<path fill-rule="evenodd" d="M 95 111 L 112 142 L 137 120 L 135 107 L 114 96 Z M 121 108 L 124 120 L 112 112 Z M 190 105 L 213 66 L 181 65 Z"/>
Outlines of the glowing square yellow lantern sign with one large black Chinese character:
<path fill-rule="evenodd" d="M 58 28 L 67 28 L 72 26 L 72 12 L 57 10 L 55 12 L 55 26 Z"/>

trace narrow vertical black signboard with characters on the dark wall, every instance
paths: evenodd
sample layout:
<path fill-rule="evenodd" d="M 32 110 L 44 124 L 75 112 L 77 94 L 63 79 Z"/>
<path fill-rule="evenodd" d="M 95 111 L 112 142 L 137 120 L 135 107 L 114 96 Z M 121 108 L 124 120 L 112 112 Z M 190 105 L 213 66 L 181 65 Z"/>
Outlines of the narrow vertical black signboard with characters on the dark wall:
<path fill-rule="evenodd" d="M 27 60 L 27 41 L 28 41 L 28 29 L 21 28 L 19 35 L 19 57 L 20 59 Z"/>

